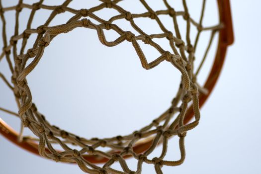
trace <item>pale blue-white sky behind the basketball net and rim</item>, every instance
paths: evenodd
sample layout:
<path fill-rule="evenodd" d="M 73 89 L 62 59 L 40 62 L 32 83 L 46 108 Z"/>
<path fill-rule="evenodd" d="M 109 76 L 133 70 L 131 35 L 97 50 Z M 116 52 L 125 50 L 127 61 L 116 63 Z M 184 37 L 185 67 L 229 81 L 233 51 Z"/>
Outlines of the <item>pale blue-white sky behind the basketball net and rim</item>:
<path fill-rule="evenodd" d="M 188 0 L 188 4 L 190 2 L 192 0 Z M 208 0 L 207 3 L 215 5 L 215 0 Z M 50 4 L 50 0 L 45 4 Z M 160 4 L 153 4 L 160 8 Z M 80 3 L 77 5 L 79 9 L 82 8 Z M 260 5 L 260 0 L 231 0 L 235 43 L 228 49 L 218 83 L 201 109 L 200 124 L 187 133 L 185 162 L 174 168 L 164 167 L 164 173 L 260 173 Z M 207 10 L 206 14 L 211 12 L 211 9 Z M 194 10 L 195 13 L 198 11 Z M 28 13 L 29 10 L 25 10 L 24 15 Z M 38 14 L 39 23 L 33 25 L 40 25 L 40 19 L 48 16 L 43 14 L 47 14 L 47 11 Z M 8 15 L 11 16 L 11 13 Z M 106 18 L 104 13 L 100 15 Z M 14 20 L 12 17 L 7 19 L 11 36 Z M 54 24 L 65 23 L 67 19 L 68 15 L 61 15 Z M 151 25 L 146 22 L 139 24 Z M 21 26 L 25 25 L 21 23 Z M 155 28 L 147 29 L 153 33 Z M 114 33 L 108 34 L 113 39 Z M 154 50 L 144 49 L 149 60 L 157 57 L 158 53 Z M 198 54 L 200 56 L 202 53 Z M 6 63 L 0 63 L 0 71 L 6 75 L 7 68 Z M 202 77 L 204 72 L 207 69 L 203 69 Z M 81 136 L 107 137 L 131 133 L 165 111 L 176 92 L 179 79 L 178 72 L 167 62 L 159 65 L 159 68 L 145 71 L 130 43 L 108 48 L 99 43 L 94 30 L 81 28 L 71 34 L 58 36 L 51 42 L 37 68 L 28 76 L 28 84 L 38 110 L 51 123 Z M 6 99 L 12 98 L 12 95 L 2 82 L 0 91 L 4 91 L 0 93 L 0 107 L 15 110 L 14 102 Z M 0 117 L 18 130 L 17 118 L 10 118 L 3 112 L 0 112 Z M 96 121 L 101 124 L 94 126 L 93 122 Z M 179 158 L 176 140 L 174 137 L 169 145 L 168 159 Z M 136 169 L 135 160 L 127 162 L 133 170 Z M 0 136 L 0 174 L 54 172 L 82 173 L 75 165 L 40 158 Z M 143 174 L 154 173 L 152 166 L 144 166 Z"/>

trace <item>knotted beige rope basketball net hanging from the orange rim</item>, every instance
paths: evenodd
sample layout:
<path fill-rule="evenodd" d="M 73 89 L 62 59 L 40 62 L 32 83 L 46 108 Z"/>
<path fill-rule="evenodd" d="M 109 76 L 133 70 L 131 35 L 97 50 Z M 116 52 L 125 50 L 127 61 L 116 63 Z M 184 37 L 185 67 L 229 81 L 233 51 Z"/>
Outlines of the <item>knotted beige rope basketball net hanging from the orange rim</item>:
<path fill-rule="evenodd" d="M 203 26 L 203 16 L 205 11 L 206 0 L 203 0 L 199 22 L 194 20 L 189 13 L 186 0 L 182 0 L 183 11 L 175 11 L 175 8 L 163 0 L 166 9 L 154 11 L 145 0 L 140 0 L 140 3 L 146 8 L 144 13 L 133 14 L 123 9 L 118 2 L 122 0 L 100 0 L 101 3 L 89 9 L 73 9 L 69 7 L 72 0 L 65 0 L 61 5 L 49 6 L 44 4 L 44 0 L 39 0 L 34 4 L 23 3 L 22 0 L 18 4 L 10 7 L 2 7 L 0 0 L 0 17 L 2 22 L 2 53 L 0 61 L 6 59 L 12 76 L 11 83 L 0 72 L 0 79 L 9 87 L 15 96 L 18 106 L 18 114 L 6 108 L 0 110 L 11 115 L 19 116 L 22 126 L 19 134 L 19 140 L 24 142 L 37 142 L 38 153 L 48 159 L 63 163 L 77 163 L 80 169 L 89 174 L 140 174 L 142 172 L 142 164 L 154 165 L 157 174 L 162 174 L 163 166 L 178 166 L 185 159 L 184 139 L 187 131 L 196 127 L 200 120 L 200 101 L 199 94 L 207 94 L 209 92 L 204 87 L 199 86 L 197 75 L 204 64 L 213 38 L 219 30 L 224 28 L 224 23 L 218 23 L 215 26 Z M 221 0 L 220 0 L 221 1 Z M 221 3 L 221 2 L 220 2 Z M 222 2 L 223 3 L 223 2 Z M 26 25 L 26 29 L 19 33 L 19 16 L 24 9 L 31 9 L 30 16 Z M 104 8 L 113 8 L 119 12 L 118 15 L 112 16 L 109 20 L 104 20 L 95 15 L 94 12 Z M 32 28 L 32 21 L 35 13 L 39 9 L 52 11 L 45 23 Z M 9 39 L 6 36 L 6 21 L 4 13 L 6 11 L 15 10 L 15 29 L 13 36 Z M 70 12 L 73 16 L 64 24 L 50 26 L 51 21 L 60 13 Z M 174 33 L 169 31 L 162 21 L 160 15 L 169 15 L 174 23 Z M 177 16 L 182 16 L 186 23 L 185 37 L 182 38 L 180 29 L 177 23 Z M 155 20 L 160 29 L 160 33 L 147 34 L 134 21 L 135 18 L 151 18 Z M 125 19 L 130 22 L 133 29 L 139 33 L 135 35 L 131 31 L 124 31 L 118 25 L 114 24 L 116 20 Z M 95 22 L 94 22 L 95 21 Z M 98 22 L 99 24 L 95 24 Z M 191 26 L 197 28 L 197 34 L 192 44 L 190 38 Z M 108 47 L 113 47 L 122 42 L 130 42 L 140 59 L 144 69 L 149 70 L 167 61 L 176 68 L 181 75 L 180 87 L 174 97 L 172 104 L 162 115 L 154 119 L 150 124 L 143 128 L 134 131 L 129 135 L 118 135 L 111 138 L 83 138 L 71 132 L 62 130 L 51 125 L 40 111 L 37 110 L 36 104 L 33 103 L 31 90 L 27 84 L 26 77 L 33 72 L 41 60 L 45 48 L 48 47 L 52 40 L 62 33 L 68 33 L 78 27 L 96 30 L 99 41 Z M 119 34 L 119 37 L 114 41 L 108 41 L 104 30 L 114 30 Z M 206 46 L 205 54 L 198 67 L 194 67 L 195 51 L 197 48 L 200 34 L 204 31 L 211 31 L 209 43 Z M 28 39 L 31 35 L 37 35 L 32 48 L 26 50 Z M 165 50 L 155 40 L 168 39 L 172 50 Z M 17 41 L 21 40 L 21 48 L 17 49 Z M 155 48 L 160 56 L 155 60 L 148 62 L 144 54 L 140 42 L 150 45 Z M 229 44 L 229 43 L 228 43 Z M 14 65 L 11 61 L 11 55 Z M 28 60 L 32 61 L 28 64 Z M 186 114 L 188 114 L 189 106 L 193 109 L 194 120 L 187 123 Z M 191 112 L 191 113 L 192 113 Z M 0 119 L 0 128 L 6 131 Z M 28 127 L 37 137 L 23 136 L 23 128 Z M 176 161 L 164 160 L 168 149 L 168 141 L 171 137 L 177 135 L 179 139 L 180 158 Z M 144 143 L 144 141 L 146 143 Z M 54 149 L 53 145 L 60 145 L 62 151 Z M 143 145 L 141 148 L 139 145 Z M 149 155 L 155 150 L 158 145 L 162 145 L 162 152 L 159 157 L 149 159 Z M 69 145 L 76 145 L 77 149 L 72 149 Z M 101 151 L 100 147 L 109 148 L 110 151 Z M 33 149 L 33 147 L 31 147 Z M 137 169 L 132 171 L 125 158 L 133 157 L 137 160 Z M 99 167 L 95 165 L 97 162 L 103 162 L 104 165 Z M 114 163 L 119 163 L 121 170 L 113 169 Z"/>

